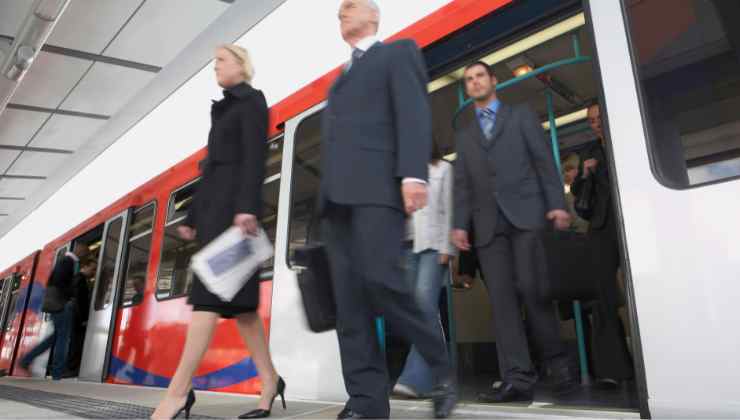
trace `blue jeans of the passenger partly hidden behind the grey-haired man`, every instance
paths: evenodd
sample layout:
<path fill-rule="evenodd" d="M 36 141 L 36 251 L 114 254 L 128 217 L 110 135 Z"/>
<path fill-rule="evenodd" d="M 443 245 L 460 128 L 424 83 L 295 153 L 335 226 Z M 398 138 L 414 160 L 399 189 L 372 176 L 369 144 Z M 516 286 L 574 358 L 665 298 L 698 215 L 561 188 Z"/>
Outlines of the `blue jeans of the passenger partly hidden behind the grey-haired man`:
<path fill-rule="evenodd" d="M 407 281 L 414 285 L 414 295 L 421 307 L 424 321 L 438 325 L 439 340 L 444 342 L 439 317 L 439 296 L 445 284 L 448 267 L 439 263 L 439 253 L 435 250 L 420 253 L 408 250 L 406 258 Z M 437 383 L 437 378 L 415 346 L 411 347 L 398 383 L 412 388 L 419 395 L 431 392 Z"/>

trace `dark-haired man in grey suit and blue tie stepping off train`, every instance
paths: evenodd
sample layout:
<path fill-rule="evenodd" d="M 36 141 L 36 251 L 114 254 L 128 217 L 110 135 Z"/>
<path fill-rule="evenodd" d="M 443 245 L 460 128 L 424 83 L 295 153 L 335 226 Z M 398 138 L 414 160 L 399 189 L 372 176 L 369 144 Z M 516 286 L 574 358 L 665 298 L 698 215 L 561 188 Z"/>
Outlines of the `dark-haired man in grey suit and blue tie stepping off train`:
<path fill-rule="evenodd" d="M 496 77 L 482 62 L 464 73 L 475 118 L 456 132 L 453 243 L 469 250 L 472 220 L 475 248 L 493 308 L 496 349 L 503 385 L 480 395 L 485 402 L 531 401 L 537 373 L 530 357 L 522 304 L 532 337 L 556 389 L 572 389 L 574 377 L 551 305 L 540 302 L 546 276 L 540 231 L 548 221 L 567 229 L 563 184 L 550 143 L 537 116 L 525 105 L 496 97 Z"/>

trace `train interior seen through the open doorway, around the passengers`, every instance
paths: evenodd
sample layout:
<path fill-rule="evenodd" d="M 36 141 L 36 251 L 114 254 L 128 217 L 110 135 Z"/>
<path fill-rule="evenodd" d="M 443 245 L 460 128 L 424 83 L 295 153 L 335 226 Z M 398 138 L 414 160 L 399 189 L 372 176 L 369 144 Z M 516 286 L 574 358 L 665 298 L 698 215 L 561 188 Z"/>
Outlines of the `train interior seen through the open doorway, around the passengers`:
<path fill-rule="evenodd" d="M 599 142 L 587 119 L 587 109 L 597 102 L 600 90 L 600 80 L 594 71 L 590 37 L 584 16 L 579 12 L 558 16 L 503 48 L 498 46 L 467 60 L 482 60 L 492 65 L 498 79 L 497 96 L 502 102 L 527 104 L 534 110 L 542 123 L 543 140 L 556 144 L 553 149 L 557 150 L 557 161 L 575 159 L 578 162 L 582 152 Z M 435 142 L 446 159 L 452 162 L 455 159 L 455 127 L 471 122 L 477 124 L 473 106 L 467 102 L 461 80 L 462 68 L 457 67 L 436 78 L 430 86 Z M 565 188 L 566 194 L 570 194 L 569 185 Z M 585 221 L 583 223 L 587 224 Z M 574 224 L 572 229 L 578 229 L 586 235 L 586 229 L 579 225 Z M 614 243 L 613 246 L 617 247 L 618 244 Z M 448 339 L 456 344 L 450 346 L 450 351 L 457 361 L 463 398 L 475 401 L 478 393 L 501 379 L 494 334 L 496 320 L 493 319 L 480 271 L 468 283 L 458 278 L 459 271 L 457 266 L 453 266 L 453 286 L 442 293 L 440 313 Z M 617 272 L 610 275 L 609 281 L 618 292 L 619 302 L 618 313 L 612 315 L 618 317 L 616 322 L 619 325 L 620 342 L 612 344 L 630 354 L 615 356 L 611 351 L 603 351 L 599 345 L 602 332 L 598 329 L 599 325 L 603 325 L 603 320 L 597 319 L 598 300 L 573 296 L 572 301 L 553 302 L 553 311 L 560 320 L 561 338 L 567 344 L 572 366 L 579 371 L 581 386 L 572 395 L 555 398 L 545 385 L 546 381 L 541 380 L 535 390 L 536 402 L 618 409 L 638 407 L 634 371 L 631 362 L 624 362 L 625 359 L 631 359 L 632 350 L 623 276 Z M 594 278 L 593 281 L 605 280 Z M 577 316 L 574 302 L 580 305 Z M 526 308 L 524 317 L 526 319 Z M 580 318 L 580 325 L 577 325 L 577 318 Z M 392 326 L 388 328 L 389 365 L 392 373 L 400 373 L 407 348 L 393 337 Z M 537 360 L 538 352 L 533 347 L 531 335 L 529 342 L 535 366 L 544 379 L 545 363 Z M 622 361 L 610 360 L 612 357 L 621 358 Z M 603 368 L 604 365 L 614 364 L 626 366 L 621 370 Z"/>

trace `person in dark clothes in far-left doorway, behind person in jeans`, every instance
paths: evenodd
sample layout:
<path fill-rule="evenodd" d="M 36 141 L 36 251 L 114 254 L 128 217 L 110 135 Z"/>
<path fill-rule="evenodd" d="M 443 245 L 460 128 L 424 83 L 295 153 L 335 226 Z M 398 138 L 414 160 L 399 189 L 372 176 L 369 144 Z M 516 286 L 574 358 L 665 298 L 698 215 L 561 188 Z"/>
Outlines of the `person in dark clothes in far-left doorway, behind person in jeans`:
<path fill-rule="evenodd" d="M 78 376 L 80 371 L 87 317 L 90 312 L 90 288 L 88 287 L 88 282 L 90 281 L 89 279 L 95 277 L 97 268 L 98 263 L 96 260 L 87 259 L 82 263 L 80 272 L 75 275 L 72 282 L 72 289 L 74 290 L 72 298 L 74 314 L 70 328 L 71 335 L 69 340 L 69 356 L 67 357 L 67 370 L 62 374 L 64 378 L 74 378 Z"/>

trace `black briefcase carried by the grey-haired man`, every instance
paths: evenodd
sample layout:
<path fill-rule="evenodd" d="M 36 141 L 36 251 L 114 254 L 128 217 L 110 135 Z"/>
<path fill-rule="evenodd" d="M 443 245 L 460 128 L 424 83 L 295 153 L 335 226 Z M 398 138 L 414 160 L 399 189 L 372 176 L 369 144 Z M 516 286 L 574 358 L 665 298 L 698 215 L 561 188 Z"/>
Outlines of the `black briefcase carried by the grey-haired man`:
<path fill-rule="evenodd" d="M 337 311 L 329 258 L 323 244 L 303 245 L 293 251 L 293 268 L 303 298 L 308 327 L 313 332 L 336 328 Z"/>

